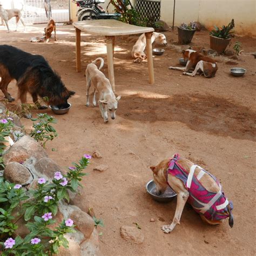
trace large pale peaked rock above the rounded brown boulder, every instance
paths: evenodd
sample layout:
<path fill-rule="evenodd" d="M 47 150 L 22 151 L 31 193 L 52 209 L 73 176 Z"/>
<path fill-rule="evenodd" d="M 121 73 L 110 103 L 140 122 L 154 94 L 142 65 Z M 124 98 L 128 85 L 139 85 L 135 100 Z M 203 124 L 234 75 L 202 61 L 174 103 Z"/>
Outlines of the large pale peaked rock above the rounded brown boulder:
<path fill-rule="evenodd" d="M 13 159 L 19 157 L 27 156 L 27 158 L 33 157 L 35 159 L 41 159 L 43 157 L 48 157 L 46 151 L 43 149 L 35 139 L 28 135 L 24 135 L 22 138 L 17 140 L 17 142 L 11 147 L 9 152 L 4 155 L 4 163 L 8 164 Z M 24 159 L 24 160 L 26 160 Z"/>

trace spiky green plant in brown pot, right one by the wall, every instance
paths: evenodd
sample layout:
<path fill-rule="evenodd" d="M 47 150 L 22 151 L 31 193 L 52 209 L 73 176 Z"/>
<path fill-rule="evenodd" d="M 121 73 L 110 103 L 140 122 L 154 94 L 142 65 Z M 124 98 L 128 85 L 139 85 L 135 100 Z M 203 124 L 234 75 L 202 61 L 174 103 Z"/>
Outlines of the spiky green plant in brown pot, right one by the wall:
<path fill-rule="evenodd" d="M 234 28 L 234 19 L 227 25 L 218 28 L 214 26 L 214 29 L 210 32 L 210 48 L 223 53 L 228 44 L 231 44 L 231 30 Z"/>

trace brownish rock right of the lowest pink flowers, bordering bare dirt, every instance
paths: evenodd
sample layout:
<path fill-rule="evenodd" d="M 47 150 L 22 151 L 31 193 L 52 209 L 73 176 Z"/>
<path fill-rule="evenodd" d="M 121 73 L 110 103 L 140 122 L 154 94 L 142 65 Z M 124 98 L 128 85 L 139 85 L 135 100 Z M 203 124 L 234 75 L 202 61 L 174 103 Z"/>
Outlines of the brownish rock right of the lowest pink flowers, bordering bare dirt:
<path fill-rule="evenodd" d="M 72 207 L 73 211 L 69 214 L 69 218 L 74 221 L 77 230 L 84 234 L 85 239 L 88 239 L 91 236 L 91 233 L 93 232 L 93 229 L 95 227 L 94 220 L 89 214 L 80 210 L 79 207 L 70 207 Z"/>

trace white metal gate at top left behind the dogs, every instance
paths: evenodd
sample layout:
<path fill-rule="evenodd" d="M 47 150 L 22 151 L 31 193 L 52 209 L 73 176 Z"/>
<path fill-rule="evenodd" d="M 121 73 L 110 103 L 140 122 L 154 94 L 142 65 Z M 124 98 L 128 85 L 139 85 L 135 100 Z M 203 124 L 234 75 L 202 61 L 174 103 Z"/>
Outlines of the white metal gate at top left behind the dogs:
<path fill-rule="evenodd" d="M 55 22 L 69 22 L 69 0 L 48 0 L 51 6 L 51 18 Z M 45 0 L 1 0 L 5 9 L 22 9 L 25 24 L 47 23 Z M 46 1 L 47 2 L 47 1 Z M 15 18 L 9 24 L 15 24 Z"/>

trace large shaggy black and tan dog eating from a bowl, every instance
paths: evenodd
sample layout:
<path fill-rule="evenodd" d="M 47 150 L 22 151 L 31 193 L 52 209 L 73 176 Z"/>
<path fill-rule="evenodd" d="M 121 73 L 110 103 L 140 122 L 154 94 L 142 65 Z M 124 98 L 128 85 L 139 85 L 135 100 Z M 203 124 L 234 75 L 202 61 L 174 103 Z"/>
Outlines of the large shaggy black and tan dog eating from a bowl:
<path fill-rule="evenodd" d="M 26 103 L 26 93 L 29 92 L 38 109 L 47 108 L 38 103 L 38 96 L 48 98 L 48 104 L 62 109 L 67 105 L 68 98 L 75 94 L 66 89 L 60 76 L 43 56 L 32 55 L 10 45 L 0 45 L 0 89 L 10 102 L 14 98 L 8 93 L 7 87 L 13 79 L 17 81 L 21 103 Z M 25 117 L 31 118 L 31 114 Z"/>

